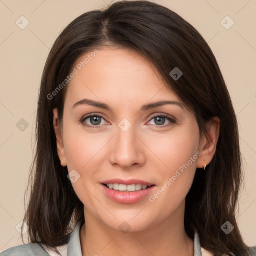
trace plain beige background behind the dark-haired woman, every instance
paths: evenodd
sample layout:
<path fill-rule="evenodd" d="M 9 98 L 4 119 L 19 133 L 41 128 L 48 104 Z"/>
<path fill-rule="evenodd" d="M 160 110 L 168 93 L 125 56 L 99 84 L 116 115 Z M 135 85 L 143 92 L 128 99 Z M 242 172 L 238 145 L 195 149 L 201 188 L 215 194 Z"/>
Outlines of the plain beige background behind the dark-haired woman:
<path fill-rule="evenodd" d="M 38 85 L 49 49 L 72 19 L 109 2 L 0 0 L 0 251 L 22 243 L 15 227 L 24 214 Z M 190 22 L 209 43 L 219 63 L 239 121 L 244 156 L 245 187 L 239 201 L 238 224 L 247 244 L 256 245 L 256 1 L 155 2 Z M 29 21 L 24 29 L 15 24 L 21 15 Z M 220 22 L 226 15 L 234 21 L 229 29 Z M 21 118 L 28 123 L 23 131 L 16 126 Z"/>

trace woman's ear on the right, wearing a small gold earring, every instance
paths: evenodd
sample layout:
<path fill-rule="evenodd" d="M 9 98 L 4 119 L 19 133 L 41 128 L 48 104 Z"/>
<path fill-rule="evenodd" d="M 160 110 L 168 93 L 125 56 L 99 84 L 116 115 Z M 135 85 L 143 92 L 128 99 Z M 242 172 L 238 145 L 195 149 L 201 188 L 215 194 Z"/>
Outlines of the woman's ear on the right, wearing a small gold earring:
<path fill-rule="evenodd" d="M 204 163 L 207 165 L 213 158 L 216 151 L 216 145 L 219 136 L 220 119 L 217 116 L 212 117 L 206 123 L 207 134 L 203 133 L 200 137 L 199 151 L 200 156 L 197 158 L 196 167 L 202 168 Z"/>

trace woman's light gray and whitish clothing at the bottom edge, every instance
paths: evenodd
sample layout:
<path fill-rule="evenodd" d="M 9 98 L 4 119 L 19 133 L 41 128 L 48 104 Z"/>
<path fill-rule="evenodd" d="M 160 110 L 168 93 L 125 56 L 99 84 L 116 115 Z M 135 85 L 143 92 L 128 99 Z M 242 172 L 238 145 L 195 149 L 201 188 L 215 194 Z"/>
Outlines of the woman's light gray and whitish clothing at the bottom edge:
<path fill-rule="evenodd" d="M 70 238 L 67 244 L 58 246 L 59 252 L 62 256 L 82 256 L 80 246 L 80 228 L 84 223 L 80 220 L 76 223 L 73 231 L 70 234 Z M 254 247 L 256 255 L 256 246 Z M 253 250 L 254 251 L 254 250 Z M 45 246 L 41 246 L 38 243 L 27 243 L 8 248 L 0 253 L 1 256 L 57 256 L 54 251 L 47 249 Z M 59 256 L 59 255 L 58 255 Z M 194 256 L 212 256 L 210 252 L 204 250 L 200 246 L 198 233 L 194 232 Z"/>

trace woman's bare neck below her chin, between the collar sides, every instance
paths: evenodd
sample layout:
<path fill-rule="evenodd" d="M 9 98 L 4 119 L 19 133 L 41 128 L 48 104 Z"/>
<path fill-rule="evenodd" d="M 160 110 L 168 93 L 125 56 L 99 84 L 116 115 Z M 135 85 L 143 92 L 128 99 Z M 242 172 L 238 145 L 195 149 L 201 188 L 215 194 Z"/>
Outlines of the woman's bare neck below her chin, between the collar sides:
<path fill-rule="evenodd" d="M 110 228 L 93 214 L 85 211 L 85 223 L 80 229 L 80 244 L 83 256 L 193 256 L 193 240 L 184 229 L 180 210 L 161 222 L 142 231 L 126 232 Z M 183 211 L 184 213 L 184 211 Z"/>

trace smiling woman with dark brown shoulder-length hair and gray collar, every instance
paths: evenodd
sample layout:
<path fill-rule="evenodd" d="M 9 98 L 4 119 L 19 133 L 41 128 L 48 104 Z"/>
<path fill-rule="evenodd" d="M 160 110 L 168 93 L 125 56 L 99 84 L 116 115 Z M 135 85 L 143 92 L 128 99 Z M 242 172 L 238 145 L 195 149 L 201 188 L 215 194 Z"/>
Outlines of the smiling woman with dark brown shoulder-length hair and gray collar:
<path fill-rule="evenodd" d="M 230 96 L 175 12 L 118 1 L 68 24 L 43 70 L 36 136 L 31 243 L 3 256 L 256 255 L 235 219 Z"/>

